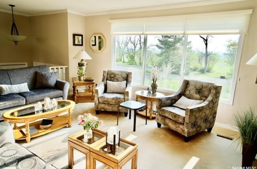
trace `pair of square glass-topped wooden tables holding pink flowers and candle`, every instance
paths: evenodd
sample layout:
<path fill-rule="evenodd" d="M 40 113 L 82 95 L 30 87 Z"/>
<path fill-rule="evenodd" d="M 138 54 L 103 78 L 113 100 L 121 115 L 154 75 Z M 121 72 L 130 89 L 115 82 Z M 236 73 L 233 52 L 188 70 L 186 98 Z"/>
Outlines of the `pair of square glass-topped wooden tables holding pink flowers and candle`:
<path fill-rule="evenodd" d="M 120 147 L 125 148 L 119 155 L 108 154 L 101 150 L 106 144 L 106 133 L 94 129 L 92 143 L 82 141 L 84 130 L 68 137 L 68 161 L 69 167 L 73 168 L 73 150 L 76 149 L 86 155 L 86 169 L 96 169 L 96 161 L 112 167 L 121 169 L 129 160 L 132 160 L 131 169 L 137 168 L 138 145 L 125 139 L 120 139 Z"/>

